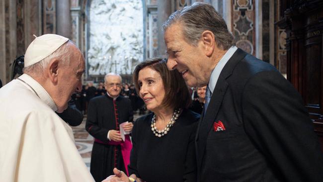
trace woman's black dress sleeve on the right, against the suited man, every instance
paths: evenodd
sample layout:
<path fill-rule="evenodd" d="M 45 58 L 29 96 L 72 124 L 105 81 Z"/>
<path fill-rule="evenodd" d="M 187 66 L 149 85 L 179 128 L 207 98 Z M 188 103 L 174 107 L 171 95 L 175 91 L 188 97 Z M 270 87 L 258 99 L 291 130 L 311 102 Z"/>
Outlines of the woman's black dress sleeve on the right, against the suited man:
<path fill-rule="evenodd" d="M 199 118 L 198 118 L 199 119 Z M 184 182 L 197 182 L 197 164 L 195 155 L 195 135 L 196 135 L 197 121 L 191 126 L 191 135 L 189 136 L 189 143 L 187 146 L 185 170 L 183 175 Z"/>

